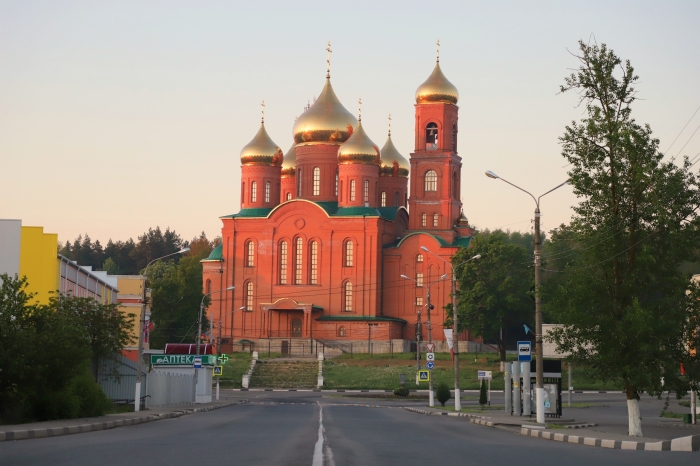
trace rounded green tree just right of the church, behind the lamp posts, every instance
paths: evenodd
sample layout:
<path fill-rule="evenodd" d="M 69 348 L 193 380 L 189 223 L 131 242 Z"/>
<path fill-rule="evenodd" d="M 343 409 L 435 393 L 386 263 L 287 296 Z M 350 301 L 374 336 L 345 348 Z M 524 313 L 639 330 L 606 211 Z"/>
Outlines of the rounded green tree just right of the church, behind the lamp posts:
<path fill-rule="evenodd" d="M 510 243 L 508 234 L 496 230 L 478 233 L 469 249 L 460 249 L 452 262 L 460 264 L 477 254 L 481 259 L 456 271 L 459 328 L 496 341 L 505 361 L 509 329 L 531 323 L 534 316 L 529 297 L 534 279 L 531 258 L 524 246 Z M 452 325 L 450 309 L 445 326 Z"/>

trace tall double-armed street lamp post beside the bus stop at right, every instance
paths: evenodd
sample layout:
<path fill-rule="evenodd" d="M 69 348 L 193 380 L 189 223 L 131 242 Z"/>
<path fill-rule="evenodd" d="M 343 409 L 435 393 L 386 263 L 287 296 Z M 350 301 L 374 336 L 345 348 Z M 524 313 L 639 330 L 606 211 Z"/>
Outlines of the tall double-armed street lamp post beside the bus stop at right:
<path fill-rule="evenodd" d="M 555 189 L 561 188 L 565 184 L 568 184 L 571 179 L 566 180 L 562 184 L 555 186 L 546 193 L 542 194 L 540 197 L 535 198 L 531 193 L 525 191 L 520 186 L 516 186 L 508 180 L 505 180 L 498 175 L 496 175 L 491 170 L 486 172 L 486 176 L 496 180 L 501 180 L 520 191 L 527 193 L 535 201 L 535 357 L 537 358 L 536 363 L 536 388 L 535 397 L 537 403 L 537 422 L 539 424 L 544 424 L 544 355 L 542 352 L 542 299 L 540 297 L 540 285 L 542 283 L 542 276 L 540 273 L 541 265 L 541 253 L 542 253 L 542 241 L 540 238 L 540 199 L 543 196 L 551 193 Z M 526 394 L 529 396 L 529 394 Z"/>

